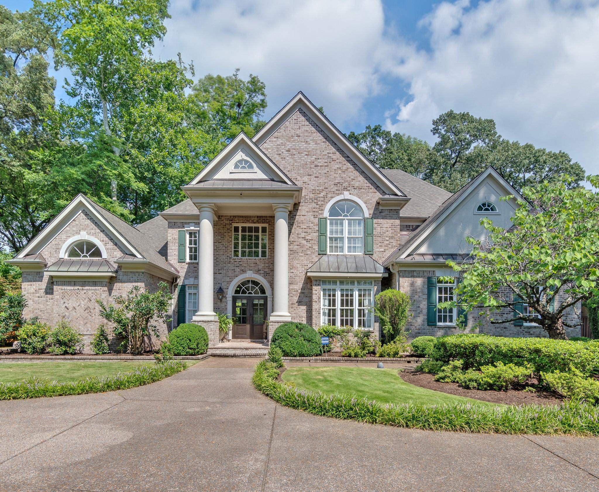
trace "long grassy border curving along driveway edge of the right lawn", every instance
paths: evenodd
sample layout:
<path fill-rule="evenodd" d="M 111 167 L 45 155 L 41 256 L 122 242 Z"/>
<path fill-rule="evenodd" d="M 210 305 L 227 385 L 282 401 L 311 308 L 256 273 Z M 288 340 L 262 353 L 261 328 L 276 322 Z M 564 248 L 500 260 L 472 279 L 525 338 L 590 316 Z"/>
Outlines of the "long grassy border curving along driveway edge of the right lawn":
<path fill-rule="evenodd" d="M 268 361 L 256 366 L 256 389 L 289 408 L 314 415 L 371 424 L 426 430 L 501 434 L 568 434 L 599 436 L 599 407 L 567 402 L 561 406 L 525 405 L 491 408 L 481 405 L 382 405 L 351 395 L 323 395 L 299 390 L 277 380 Z"/>

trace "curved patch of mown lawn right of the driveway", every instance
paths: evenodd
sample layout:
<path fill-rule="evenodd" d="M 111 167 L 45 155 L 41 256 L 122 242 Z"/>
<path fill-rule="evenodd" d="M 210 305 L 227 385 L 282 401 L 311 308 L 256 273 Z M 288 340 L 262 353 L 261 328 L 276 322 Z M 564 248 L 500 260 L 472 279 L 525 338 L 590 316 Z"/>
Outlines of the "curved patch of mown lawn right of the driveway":
<path fill-rule="evenodd" d="M 382 404 L 420 403 L 455 404 L 472 403 L 495 407 L 495 404 L 447 395 L 408 384 L 397 374 L 397 369 L 361 367 L 290 367 L 283 372 L 283 381 L 295 383 L 298 388 L 323 393 L 349 393 L 365 396 Z"/>

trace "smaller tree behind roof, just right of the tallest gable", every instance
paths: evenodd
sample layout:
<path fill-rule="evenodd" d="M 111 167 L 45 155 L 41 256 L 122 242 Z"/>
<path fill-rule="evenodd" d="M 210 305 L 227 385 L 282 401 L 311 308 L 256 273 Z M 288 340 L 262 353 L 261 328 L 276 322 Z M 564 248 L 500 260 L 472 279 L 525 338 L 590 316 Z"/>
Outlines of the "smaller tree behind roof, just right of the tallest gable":
<path fill-rule="evenodd" d="M 422 178 L 427 166 L 437 156 L 423 140 L 368 125 L 364 132 L 347 135 L 368 159 L 381 169 L 401 169 Z"/>

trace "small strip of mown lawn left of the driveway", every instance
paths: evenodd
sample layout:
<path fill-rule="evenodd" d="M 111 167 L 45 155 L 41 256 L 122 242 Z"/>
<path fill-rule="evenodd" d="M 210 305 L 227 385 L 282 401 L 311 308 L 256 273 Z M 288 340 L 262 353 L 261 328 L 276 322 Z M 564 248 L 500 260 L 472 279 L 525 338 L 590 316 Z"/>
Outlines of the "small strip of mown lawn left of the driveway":
<path fill-rule="evenodd" d="M 56 380 L 59 383 L 77 381 L 89 376 L 105 376 L 116 372 L 132 371 L 141 366 L 153 365 L 153 360 L 109 360 L 92 362 L 87 360 L 61 360 L 40 362 L 0 362 L 0 383 L 18 383 L 31 376 Z"/>

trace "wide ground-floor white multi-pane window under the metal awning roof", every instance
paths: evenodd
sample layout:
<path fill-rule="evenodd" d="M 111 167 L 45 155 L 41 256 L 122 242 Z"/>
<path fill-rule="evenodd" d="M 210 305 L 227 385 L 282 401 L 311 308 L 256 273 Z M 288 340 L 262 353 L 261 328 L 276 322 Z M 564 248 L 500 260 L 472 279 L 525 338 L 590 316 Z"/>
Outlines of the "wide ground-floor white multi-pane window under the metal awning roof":
<path fill-rule="evenodd" d="M 320 322 L 323 325 L 373 328 L 372 280 L 322 280 Z"/>

